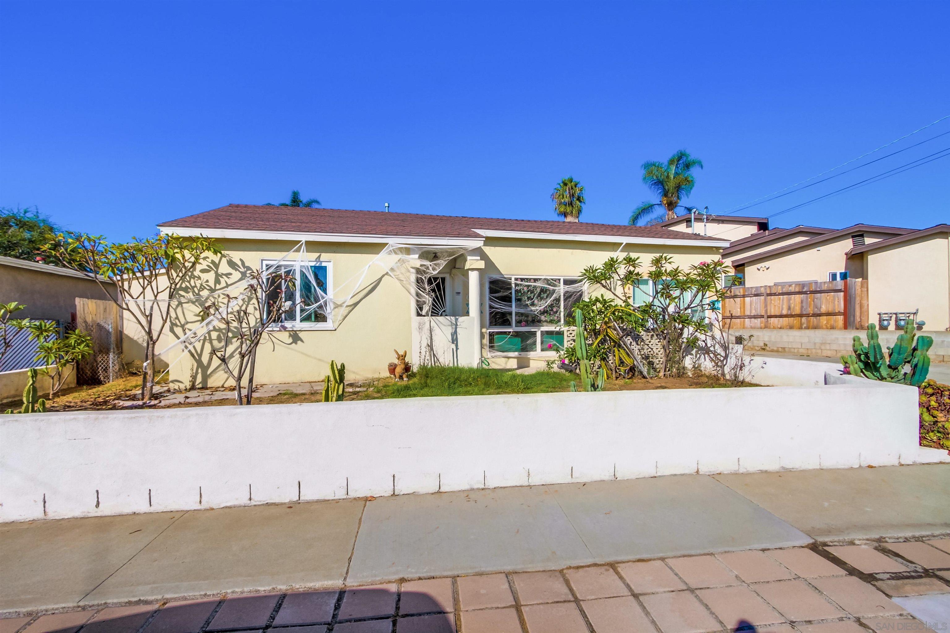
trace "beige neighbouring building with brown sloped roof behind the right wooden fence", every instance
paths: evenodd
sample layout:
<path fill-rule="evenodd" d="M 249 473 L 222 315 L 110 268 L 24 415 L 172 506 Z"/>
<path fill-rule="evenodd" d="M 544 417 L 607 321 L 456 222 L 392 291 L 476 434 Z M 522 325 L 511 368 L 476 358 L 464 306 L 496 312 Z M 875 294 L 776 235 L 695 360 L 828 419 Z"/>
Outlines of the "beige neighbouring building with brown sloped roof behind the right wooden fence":
<path fill-rule="evenodd" d="M 818 235 L 807 237 L 809 231 L 817 232 Z M 745 279 L 747 286 L 839 281 L 848 277 L 864 277 L 864 271 L 856 268 L 860 262 L 847 258 L 847 252 L 852 248 L 902 236 L 911 231 L 912 229 L 873 224 L 854 224 L 836 231 L 796 227 L 772 233 L 770 237 L 763 239 L 768 241 L 750 240 L 745 247 L 743 244 L 731 244 L 723 254 L 735 273 Z M 792 233 L 794 235 L 791 235 Z M 786 236 L 788 240 L 785 240 Z M 802 237 L 806 239 L 801 239 Z M 759 248 L 766 244 L 769 248 Z"/>

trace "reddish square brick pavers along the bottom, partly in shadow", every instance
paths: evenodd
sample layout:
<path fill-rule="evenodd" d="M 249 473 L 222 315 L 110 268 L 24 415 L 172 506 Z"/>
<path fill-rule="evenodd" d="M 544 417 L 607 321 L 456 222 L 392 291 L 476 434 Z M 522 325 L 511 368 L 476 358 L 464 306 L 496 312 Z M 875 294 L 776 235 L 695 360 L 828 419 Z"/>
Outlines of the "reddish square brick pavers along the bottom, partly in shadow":
<path fill-rule="evenodd" d="M 0 633 L 867 633 L 945 631 L 948 613 L 950 538 L 935 538 L 110 606 Z"/>

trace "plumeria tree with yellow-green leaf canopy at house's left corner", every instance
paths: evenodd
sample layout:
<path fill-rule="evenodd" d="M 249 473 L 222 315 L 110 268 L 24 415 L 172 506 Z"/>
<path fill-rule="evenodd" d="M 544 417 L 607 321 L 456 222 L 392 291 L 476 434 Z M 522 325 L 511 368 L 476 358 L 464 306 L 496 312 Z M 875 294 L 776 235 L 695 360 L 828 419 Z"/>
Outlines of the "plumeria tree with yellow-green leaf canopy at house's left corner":
<path fill-rule="evenodd" d="M 60 234 L 43 247 L 47 258 L 96 281 L 142 329 L 145 362 L 142 401 L 155 387 L 156 344 L 168 326 L 172 304 L 194 292 L 199 263 L 221 250 L 214 240 L 160 235 L 110 243 L 103 236 Z"/>

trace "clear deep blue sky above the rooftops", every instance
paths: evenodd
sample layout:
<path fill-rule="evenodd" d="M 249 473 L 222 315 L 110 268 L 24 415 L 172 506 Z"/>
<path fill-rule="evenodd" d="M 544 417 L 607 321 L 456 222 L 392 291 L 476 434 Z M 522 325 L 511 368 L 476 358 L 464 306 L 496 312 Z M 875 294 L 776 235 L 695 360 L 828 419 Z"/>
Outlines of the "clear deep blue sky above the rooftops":
<path fill-rule="evenodd" d="M 229 202 L 582 221 L 686 148 L 723 211 L 950 114 L 950 2 L 0 2 L 0 205 L 113 240 Z M 950 130 L 950 119 L 869 157 Z M 950 147 L 950 134 L 750 209 Z M 860 163 L 852 163 L 854 166 Z M 950 158 L 773 221 L 950 221 Z"/>

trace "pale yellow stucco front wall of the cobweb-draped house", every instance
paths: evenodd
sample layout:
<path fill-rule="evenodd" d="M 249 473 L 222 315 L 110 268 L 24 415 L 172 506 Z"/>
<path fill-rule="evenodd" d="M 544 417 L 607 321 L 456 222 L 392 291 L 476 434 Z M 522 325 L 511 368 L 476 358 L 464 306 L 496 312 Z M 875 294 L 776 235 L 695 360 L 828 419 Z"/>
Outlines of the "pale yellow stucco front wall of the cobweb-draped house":
<path fill-rule="evenodd" d="M 279 259 L 295 247 L 295 242 L 278 240 L 218 240 L 226 258 L 212 266 L 202 266 L 200 281 L 206 292 L 214 287 L 221 290 L 237 286 L 244 278 L 240 271 L 249 266 L 259 269 L 261 259 Z M 330 260 L 332 272 L 330 283 L 333 298 L 342 301 L 354 288 L 354 283 L 344 284 L 359 276 L 363 269 L 383 249 L 382 243 L 308 242 L 309 259 Z M 484 248 L 475 249 L 469 255 L 485 260 L 485 269 L 480 273 L 482 288 L 481 318 L 486 325 L 485 297 L 487 278 L 491 275 L 533 275 L 574 277 L 589 265 L 602 263 L 617 251 L 617 243 L 589 241 L 542 241 L 542 240 L 496 240 L 489 239 Z M 627 245 L 622 253 L 641 256 L 643 264 L 650 257 L 667 253 L 682 266 L 715 259 L 719 248 L 696 246 Z M 453 262 L 454 263 L 454 262 Z M 452 267 L 453 264 L 449 264 Z M 446 270 L 451 273 L 448 293 L 450 314 L 466 316 L 468 302 L 468 272 L 461 269 Z M 460 295 L 456 296 L 455 291 Z M 236 294 L 239 290 L 236 290 Z M 182 305 L 172 336 L 178 338 L 200 320 L 199 302 Z M 414 307 L 409 293 L 400 283 L 385 274 L 383 268 L 369 269 L 350 304 L 348 314 L 337 318 L 334 330 L 294 330 L 276 332 L 273 340 L 265 337 L 257 353 L 257 384 L 301 382 L 322 380 L 328 372 L 331 360 L 347 364 L 348 379 L 360 379 L 387 375 L 387 365 L 393 357 L 393 348 L 411 350 L 411 317 Z M 483 341 L 485 333 L 483 332 Z M 202 339 L 189 354 L 176 350 L 168 355 L 172 361 L 169 373 L 172 384 L 177 387 L 215 386 L 226 384 L 217 359 L 211 356 L 209 339 Z M 410 353 L 411 354 L 411 353 Z M 411 360 L 411 358 L 410 358 Z M 543 358 L 491 357 L 496 367 L 519 367 L 542 364 Z"/>

